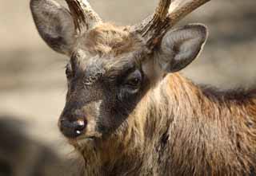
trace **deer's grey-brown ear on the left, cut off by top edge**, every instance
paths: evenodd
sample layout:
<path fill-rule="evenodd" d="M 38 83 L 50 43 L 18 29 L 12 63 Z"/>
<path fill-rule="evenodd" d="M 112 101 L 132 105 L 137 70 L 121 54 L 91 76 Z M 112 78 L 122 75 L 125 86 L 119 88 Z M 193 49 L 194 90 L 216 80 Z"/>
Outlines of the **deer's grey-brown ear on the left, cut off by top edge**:
<path fill-rule="evenodd" d="M 58 53 L 70 55 L 75 33 L 70 12 L 53 0 L 31 0 L 30 9 L 46 44 Z"/>

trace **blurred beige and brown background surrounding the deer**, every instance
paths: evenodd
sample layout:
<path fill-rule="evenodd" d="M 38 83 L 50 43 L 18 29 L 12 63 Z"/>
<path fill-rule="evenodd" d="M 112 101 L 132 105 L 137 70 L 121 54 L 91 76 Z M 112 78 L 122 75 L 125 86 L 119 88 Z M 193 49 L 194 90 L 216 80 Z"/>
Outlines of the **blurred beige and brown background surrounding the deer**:
<path fill-rule="evenodd" d="M 58 2 L 66 6 L 64 0 Z M 157 2 L 90 1 L 104 20 L 118 25 L 140 22 Z M 0 12 L 0 175 L 73 175 L 66 167 L 72 148 L 57 127 L 68 58 L 43 43 L 29 0 L 1 1 Z M 212 0 L 179 25 L 193 22 L 206 24 L 210 37 L 184 74 L 218 88 L 254 87 L 256 1 Z"/>

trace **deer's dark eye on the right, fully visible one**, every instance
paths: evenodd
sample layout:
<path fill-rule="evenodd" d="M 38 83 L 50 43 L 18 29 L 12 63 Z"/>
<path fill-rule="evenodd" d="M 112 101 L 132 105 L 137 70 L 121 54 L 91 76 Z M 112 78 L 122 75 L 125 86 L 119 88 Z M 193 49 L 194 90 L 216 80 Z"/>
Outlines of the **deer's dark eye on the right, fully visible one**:
<path fill-rule="evenodd" d="M 126 87 L 132 89 L 140 88 L 142 83 L 142 73 L 139 70 L 132 72 L 126 79 Z"/>

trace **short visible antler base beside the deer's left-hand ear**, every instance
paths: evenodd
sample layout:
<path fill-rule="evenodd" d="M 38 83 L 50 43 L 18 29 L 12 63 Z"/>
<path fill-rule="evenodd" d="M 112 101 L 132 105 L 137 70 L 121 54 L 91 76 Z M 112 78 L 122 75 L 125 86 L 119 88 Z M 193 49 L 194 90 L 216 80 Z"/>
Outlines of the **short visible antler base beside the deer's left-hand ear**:
<path fill-rule="evenodd" d="M 87 0 L 66 0 L 70 8 L 70 13 L 74 20 L 74 27 L 79 33 L 86 27 L 86 30 L 94 28 L 102 22 L 102 19 L 91 8 Z"/>

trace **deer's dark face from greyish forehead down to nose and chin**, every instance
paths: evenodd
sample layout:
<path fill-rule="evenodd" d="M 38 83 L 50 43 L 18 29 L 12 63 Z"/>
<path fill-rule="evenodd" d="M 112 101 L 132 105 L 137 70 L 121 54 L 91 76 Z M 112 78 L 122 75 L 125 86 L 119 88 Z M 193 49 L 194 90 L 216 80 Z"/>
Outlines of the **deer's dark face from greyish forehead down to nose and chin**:
<path fill-rule="evenodd" d="M 106 35 L 113 33 L 110 29 L 104 31 Z M 150 82 L 142 67 L 146 51 L 116 53 L 116 47 L 120 49 L 126 43 L 119 42 L 110 49 L 113 38 L 105 45 L 91 41 L 94 47 L 88 49 L 88 44 L 84 45 L 88 37 L 83 37 L 66 65 L 68 92 L 59 127 L 68 138 L 94 139 L 116 131 Z"/>

